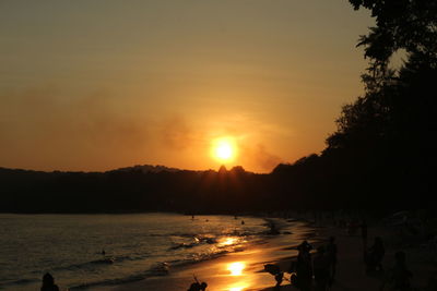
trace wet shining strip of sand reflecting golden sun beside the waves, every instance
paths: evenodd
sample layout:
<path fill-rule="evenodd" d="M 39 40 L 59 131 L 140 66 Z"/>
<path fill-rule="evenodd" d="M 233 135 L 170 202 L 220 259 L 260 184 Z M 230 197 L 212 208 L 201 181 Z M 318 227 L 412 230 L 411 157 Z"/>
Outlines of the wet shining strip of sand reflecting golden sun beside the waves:
<path fill-rule="evenodd" d="M 284 260 L 284 258 L 295 258 L 297 255 L 296 246 L 303 240 L 316 243 L 317 234 L 315 233 L 316 228 L 309 221 L 295 219 L 290 221 L 275 217 L 263 219 L 267 226 L 269 227 L 270 225 L 271 228 L 270 231 L 267 230 L 264 241 L 249 242 L 241 250 L 211 259 L 175 266 L 174 268 L 170 267 L 170 271 L 166 276 L 150 277 L 116 286 L 91 288 L 90 290 L 187 290 L 194 282 L 193 276 L 199 281 L 208 282 L 208 291 L 260 290 L 259 288 L 269 288 L 274 283 L 274 278 L 272 275 L 263 271 L 263 265 L 277 263 Z M 271 226 L 272 222 L 274 223 L 273 227 Z M 293 232 L 291 228 L 293 228 Z M 268 234 L 272 229 L 277 230 L 281 234 Z M 227 266 L 236 262 L 245 263 L 245 276 L 229 276 Z"/>

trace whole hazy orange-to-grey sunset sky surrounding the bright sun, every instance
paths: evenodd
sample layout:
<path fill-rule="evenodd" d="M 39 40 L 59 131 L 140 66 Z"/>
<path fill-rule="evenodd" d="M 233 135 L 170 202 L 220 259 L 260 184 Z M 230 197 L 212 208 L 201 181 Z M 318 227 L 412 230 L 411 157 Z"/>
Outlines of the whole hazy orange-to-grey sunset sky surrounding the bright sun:
<path fill-rule="evenodd" d="M 270 172 L 324 148 L 373 24 L 347 0 L 0 0 L 0 167 Z"/>

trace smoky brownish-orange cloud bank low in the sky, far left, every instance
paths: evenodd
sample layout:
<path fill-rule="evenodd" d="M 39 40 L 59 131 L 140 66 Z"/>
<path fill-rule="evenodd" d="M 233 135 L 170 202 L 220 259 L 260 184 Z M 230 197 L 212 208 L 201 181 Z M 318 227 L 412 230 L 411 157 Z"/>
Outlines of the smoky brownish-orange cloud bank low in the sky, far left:
<path fill-rule="evenodd" d="M 2 93 L 0 162 L 83 169 L 133 157 L 147 144 L 147 120 L 123 112 L 103 92 L 74 98 L 51 87 Z"/>

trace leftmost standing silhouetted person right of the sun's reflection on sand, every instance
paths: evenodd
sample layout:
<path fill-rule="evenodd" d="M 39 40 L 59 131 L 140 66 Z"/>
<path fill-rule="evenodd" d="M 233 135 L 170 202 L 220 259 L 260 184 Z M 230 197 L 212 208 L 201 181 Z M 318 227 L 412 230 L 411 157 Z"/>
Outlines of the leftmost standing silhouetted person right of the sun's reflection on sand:
<path fill-rule="evenodd" d="M 308 291 L 311 289 L 312 266 L 311 255 L 309 253 L 311 248 L 311 245 L 307 241 L 304 241 L 297 247 L 299 251 L 296 264 L 297 288 L 303 291 Z"/>

